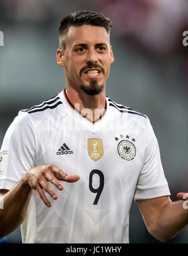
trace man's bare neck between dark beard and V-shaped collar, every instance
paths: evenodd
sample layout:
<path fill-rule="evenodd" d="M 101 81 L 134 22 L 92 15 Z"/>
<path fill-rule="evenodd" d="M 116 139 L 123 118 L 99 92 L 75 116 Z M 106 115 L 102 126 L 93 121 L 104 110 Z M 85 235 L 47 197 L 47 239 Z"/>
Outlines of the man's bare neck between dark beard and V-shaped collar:
<path fill-rule="evenodd" d="M 78 92 L 75 88 L 67 86 L 66 95 L 71 104 L 93 122 L 100 118 L 105 110 L 105 88 L 98 95 L 87 95 L 82 90 Z"/>

